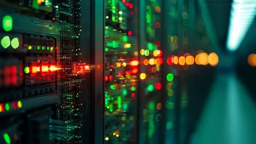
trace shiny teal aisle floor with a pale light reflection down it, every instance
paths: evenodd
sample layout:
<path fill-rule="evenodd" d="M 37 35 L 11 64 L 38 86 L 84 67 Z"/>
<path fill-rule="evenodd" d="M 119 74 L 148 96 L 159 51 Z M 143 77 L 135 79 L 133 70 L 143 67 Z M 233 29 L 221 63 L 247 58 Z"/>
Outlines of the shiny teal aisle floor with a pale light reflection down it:
<path fill-rule="evenodd" d="M 218 74 L 190 143 L 255 143 L 256 107 L 236 75 Z"/>

